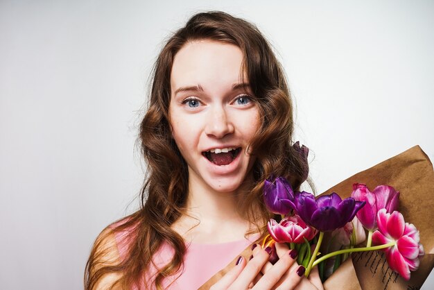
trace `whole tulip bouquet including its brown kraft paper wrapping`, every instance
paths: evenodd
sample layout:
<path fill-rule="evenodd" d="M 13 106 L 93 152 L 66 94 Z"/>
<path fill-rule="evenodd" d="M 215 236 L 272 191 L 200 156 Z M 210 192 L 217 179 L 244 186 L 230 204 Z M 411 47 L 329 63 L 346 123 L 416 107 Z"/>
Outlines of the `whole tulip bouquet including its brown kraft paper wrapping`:
<path fill-rule="evenodd" d="M 293 148 L 307 162 L 309 149 L 299 142 Z M 305 172 L 304 180 L 307 176 Z M 393 185 L 401 194 L 385 185 Z M 264 198 L 275 220 L 268 223 L 270 234 L 262 245 L 273 248 L 276 242 L 288 243 L 298 251 L 297 262 L 306 267 L 306 274 L 316 265 L 322 278 L 330 276 L 324 289 L 420 289 L 434 267 L 433 193 L 433 164 L 419 146 L 342 180 L 316 198 L 294 192 L 284 178 L 269 178 Z M 358 253 L 343 262 L 352 252 Z M 239 255 L 248 259 L 251 247 Z M 220 280 L 239 255 L 200 290 Z M 277 259 L 273 251 L 270 262 Z"/>

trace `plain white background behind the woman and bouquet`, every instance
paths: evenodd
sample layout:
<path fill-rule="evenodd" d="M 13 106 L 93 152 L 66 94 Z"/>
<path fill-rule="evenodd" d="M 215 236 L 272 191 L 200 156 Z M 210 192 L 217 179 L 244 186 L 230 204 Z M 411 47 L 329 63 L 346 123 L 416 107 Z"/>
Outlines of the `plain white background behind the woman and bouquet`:
<path fill-rule="evenodd" d="M 318 192 L 416 144 L 434 160 L 433 1 L 185 2 L 0 1 L 1 289 L 83 288 L 98 232 L 137 207 L 150 67 L 193 12 L 275 47 Z"/>

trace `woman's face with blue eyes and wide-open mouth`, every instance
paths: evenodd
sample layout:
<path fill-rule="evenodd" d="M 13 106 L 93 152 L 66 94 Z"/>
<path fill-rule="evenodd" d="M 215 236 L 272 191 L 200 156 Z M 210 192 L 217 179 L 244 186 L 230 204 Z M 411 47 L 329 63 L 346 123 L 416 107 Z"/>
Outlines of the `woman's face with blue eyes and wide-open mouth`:
<path fill-rule="evenodd" d="M 259 109 L 250 86 L 240 83 L 242 61 L 238 46 L 212 40 L 185 44 L 173 60 L 173 138 L 189 182 L 215 191 L 238 189 L 254 162 L 246 148 L 259 129 Z"/>

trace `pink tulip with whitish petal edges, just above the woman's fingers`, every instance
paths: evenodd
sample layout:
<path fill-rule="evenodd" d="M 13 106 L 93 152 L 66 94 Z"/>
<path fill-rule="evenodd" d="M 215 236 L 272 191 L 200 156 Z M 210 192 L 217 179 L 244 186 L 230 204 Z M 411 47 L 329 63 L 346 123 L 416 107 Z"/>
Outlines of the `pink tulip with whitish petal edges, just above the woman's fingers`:
<path fill-rule="evenodd" d="M 268 221 L 268 232 L 278 243 L 304 243 L 304 238 L 308 241 L 315 237 L 317 230 L 306 225 L 300 216 L 286 216 L 277 223 L 274 219 Z"/>

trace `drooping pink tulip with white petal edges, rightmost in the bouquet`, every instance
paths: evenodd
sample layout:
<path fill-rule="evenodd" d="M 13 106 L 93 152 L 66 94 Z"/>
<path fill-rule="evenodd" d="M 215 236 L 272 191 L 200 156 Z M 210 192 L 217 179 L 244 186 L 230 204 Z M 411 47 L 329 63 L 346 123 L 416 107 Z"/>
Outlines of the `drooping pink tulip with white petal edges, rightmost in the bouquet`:
<path fill-rule="evenodd" d="M 410 271 L 419 267 L 419 257 L 424 255 L 424 247 L 419 243 L 419 231 L 413 223 L 406 223 L 400 212 L 392 214 L 379 210 L 377 214 L 379 229 L 372 234 L 373 245 L 394 242 L 394 246 L 384 248 L 385 257 L 393 271 L 405 280 L 410 279 Z"/>

